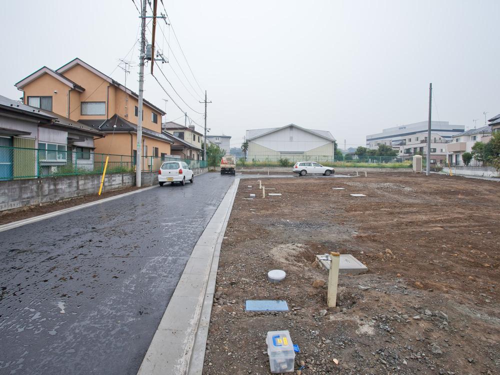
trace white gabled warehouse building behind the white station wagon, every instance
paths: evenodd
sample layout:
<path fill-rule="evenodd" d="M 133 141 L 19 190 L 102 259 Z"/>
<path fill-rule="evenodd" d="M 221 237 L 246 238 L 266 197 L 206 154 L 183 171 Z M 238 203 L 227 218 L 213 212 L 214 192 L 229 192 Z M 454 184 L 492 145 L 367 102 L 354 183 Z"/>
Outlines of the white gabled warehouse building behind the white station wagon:
<path fill-rule="evenodd" d="M 305 129 L 293 123 L 246 130 L 249 160 L 333 161 L 335 138 L 327 130 Z"/>

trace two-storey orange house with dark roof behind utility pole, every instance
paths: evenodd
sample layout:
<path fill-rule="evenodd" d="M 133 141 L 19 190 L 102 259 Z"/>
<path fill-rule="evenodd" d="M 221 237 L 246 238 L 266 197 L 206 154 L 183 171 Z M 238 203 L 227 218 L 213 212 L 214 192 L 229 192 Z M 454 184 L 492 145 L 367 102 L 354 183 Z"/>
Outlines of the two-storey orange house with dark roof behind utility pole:
<path fill-rule="evenodd" d="M 138 95 L 86 62 L 75 58 L 56 70 L 43 66 L 15 86 L 23 91 L 25 104 L 106 133 L 106 137 L 95 139 L 95 153 L 135 157 Z M 160 108 L 143 100 L 142 156 L 171 153 L 173 141 L 161 132 L 163 114 Z M 150 159 L 144 159 L 143 169 L 148 168 Z"/>

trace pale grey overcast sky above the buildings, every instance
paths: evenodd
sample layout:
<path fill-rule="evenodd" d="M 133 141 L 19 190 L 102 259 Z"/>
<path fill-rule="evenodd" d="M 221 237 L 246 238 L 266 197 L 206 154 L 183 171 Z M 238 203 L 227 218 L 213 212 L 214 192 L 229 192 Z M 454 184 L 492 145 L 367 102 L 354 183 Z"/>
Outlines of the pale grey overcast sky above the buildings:
<path fill-rule="evenodd" d="M 341 147 L 344 139 L 347 147 L 364 145 L 367 134 L 426 120 L 429 82 L 433 119 L 467 127 L 478 119 L 479 127 L 483 111 L 487 118 L 500 113 L 498 0 L 163 3 L 194 76 L 213 101 L 207 127 L 231 135 L 232 146 L 245 129 L 291 122 L 329 130 Z M 139 44 L 132 45 L 140 20 L 132 0 L 2 1 L 0 18 L 0 94 L 10 98 L 21 95 L 13 84 L 43 65 L 56 69 L 79 57 L 123 83 L 117 59 L 138 63 Z M 160 68 L 202 112 L 201 90 L 171 30 L 168 51 L 168 32 L 165 26 L 166 41 L 156 34 L 170 60 Z M 133 67 L 127 77 L 136 92 L 137 72 Z M 160 72 L 155 75 L 202 124 Z M 149 74 L 144 97 L 164 108 L 167 96 Z M 169 120 L 182 115 L 171 100 L 166 109 Z"/>

